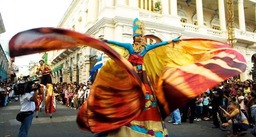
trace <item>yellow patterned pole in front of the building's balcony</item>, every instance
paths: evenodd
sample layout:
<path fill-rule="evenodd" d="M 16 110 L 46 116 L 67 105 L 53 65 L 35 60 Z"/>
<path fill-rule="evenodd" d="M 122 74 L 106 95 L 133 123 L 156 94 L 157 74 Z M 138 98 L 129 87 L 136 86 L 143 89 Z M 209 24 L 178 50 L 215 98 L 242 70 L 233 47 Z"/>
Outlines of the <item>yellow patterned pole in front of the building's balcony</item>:
<path fill-rule="evenodd" d="M 227 0 L 228 43 L 235 46 L 234 0 Z"/>

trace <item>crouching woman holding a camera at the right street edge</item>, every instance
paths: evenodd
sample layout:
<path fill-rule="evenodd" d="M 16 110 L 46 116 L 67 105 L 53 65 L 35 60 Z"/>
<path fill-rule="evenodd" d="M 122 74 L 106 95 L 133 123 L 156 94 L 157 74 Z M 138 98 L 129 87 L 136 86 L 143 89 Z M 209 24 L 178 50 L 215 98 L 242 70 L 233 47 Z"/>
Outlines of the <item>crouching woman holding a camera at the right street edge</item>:
<path fill-rule="evenodd" d="M 222 127 L 232 125 L 233 133 L 227 135 L 227 137 L 237 137 L 240 132 L 246 131 L 249 128 L 249 122 L 243 112 L 241 112 L 239 104 L 231 102 L 229 105 L 230 112 L 223 108 L 221 109 L 224 112 L 223 116 L 231 118 L 231 120 L 228 120 L 228 123 L 222 124 Z"/>

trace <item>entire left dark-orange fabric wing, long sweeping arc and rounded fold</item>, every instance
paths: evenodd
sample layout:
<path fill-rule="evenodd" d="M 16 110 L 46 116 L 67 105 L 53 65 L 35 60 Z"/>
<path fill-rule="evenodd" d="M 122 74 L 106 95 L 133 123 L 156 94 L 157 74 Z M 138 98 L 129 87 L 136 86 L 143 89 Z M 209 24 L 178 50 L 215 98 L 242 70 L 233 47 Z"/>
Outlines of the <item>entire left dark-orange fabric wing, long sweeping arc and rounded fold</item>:
<path fill-rule="evenodd" d="M 130 62 L 100 40 L 67 29 L 38 28 L 17 33 L 9 42 L 11 57 L 76 46 L 90 46 L 113 59 L 102 66 L 79 111 L 80 128 L 91 132 L 113 130 L 137 117 L 143 111 L 145 87 Z"/>

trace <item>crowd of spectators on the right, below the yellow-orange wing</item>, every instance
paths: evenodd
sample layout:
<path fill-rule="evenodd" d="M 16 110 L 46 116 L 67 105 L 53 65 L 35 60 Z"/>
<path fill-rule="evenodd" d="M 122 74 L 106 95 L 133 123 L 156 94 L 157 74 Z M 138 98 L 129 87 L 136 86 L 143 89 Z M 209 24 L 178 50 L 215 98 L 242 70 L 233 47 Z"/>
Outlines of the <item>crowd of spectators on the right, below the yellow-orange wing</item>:
<path fill-rule="evenodd" d="M 255 92 L 256 82 L 250 79 L 227 79 L 172 112 L 168 122 L 180 125 L 187 119 L 191 124 L 212 119 L 212 128 L 232 132 L 228 137 L 237 137 L 249 128 L 254 128 L 252 134 L 256 136 Z"/>

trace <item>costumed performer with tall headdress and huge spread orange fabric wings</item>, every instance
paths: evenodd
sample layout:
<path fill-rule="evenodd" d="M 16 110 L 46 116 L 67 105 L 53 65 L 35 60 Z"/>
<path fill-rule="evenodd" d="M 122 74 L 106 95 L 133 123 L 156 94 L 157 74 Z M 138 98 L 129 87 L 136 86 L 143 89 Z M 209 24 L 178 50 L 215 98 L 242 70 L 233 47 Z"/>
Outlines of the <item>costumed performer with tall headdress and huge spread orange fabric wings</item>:
<path fill-rule="evenodd" d="M 99 41 L 67 29 L 30 29 L 11 39 L 10 55 L 81 45 L 103 51 L 111 59 L 101 67 L 90 97 L 78 113 L 80 128 L 104 137 L 168 137 L 164 119 L 174 109 L 244 72 L 246 61 L 227 43 L 207 39 L 147 45 L 143 26 L 143 22 L 134 20 L 134 44 Z M 29 50 L 18 52 L 23 49 Z M 130 53 L 128 60 L 123 57 L 125 49 Z"/>

